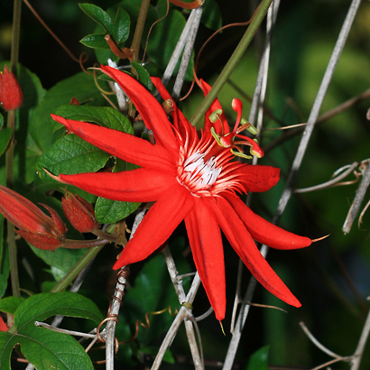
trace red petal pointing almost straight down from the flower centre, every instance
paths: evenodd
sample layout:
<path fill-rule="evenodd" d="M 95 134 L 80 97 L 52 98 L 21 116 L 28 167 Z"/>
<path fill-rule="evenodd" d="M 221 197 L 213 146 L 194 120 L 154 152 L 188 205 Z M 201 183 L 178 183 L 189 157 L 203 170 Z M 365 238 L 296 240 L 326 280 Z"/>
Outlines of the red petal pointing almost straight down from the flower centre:
<path fill-rule="evenodd" d="M 185 217 L 185 225 L 200 280 L 216 319 L 222 320 L 227 302 L 224 249 L 217 221 L 203 199 L 196 199 L 195 208 Z"/>

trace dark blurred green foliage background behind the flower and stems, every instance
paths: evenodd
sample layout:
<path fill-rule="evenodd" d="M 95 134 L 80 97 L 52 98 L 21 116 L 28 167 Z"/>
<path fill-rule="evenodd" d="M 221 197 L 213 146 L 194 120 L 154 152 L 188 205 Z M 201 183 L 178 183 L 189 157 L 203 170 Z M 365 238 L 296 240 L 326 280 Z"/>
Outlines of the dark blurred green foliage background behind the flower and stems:
<path fill-rule="evenodd" d="M 103 9 L 116 6 L 116 1 L 113 0 L 96 0 L 93 3 Z M 161 2 L 159 3 L 161 5 Z M 219 0 L 217 4 L 222 14 L 223 24 L 244 22 L 250 17 L 255 7 L 254 2 L 245 3 L 241 0 L 228 0 L 227 2 Z M 266 115 L 264 118 L 266 129 L 307 121 L 348 4 L 349 2 L 344 0 L 282 2 L 273 34 L 271 69 L 266 98 L 266 107 L 271 115 Z M 80 44 L 79 40 L 89 33 L 96 32 L 96 24 L 81 12 L 75 0 L 34 0 L 32 5 L 76 56 L 79 56 L 81 52 L 88 52 L 89 60 L 86 67 L 94 64 L 95 53 Z M 156 2 L 153 2 L 153 9 L 155 5 Z M 0 60 L 9 60 L 12 2 L 0 0 L 0 8 L 2 9 L 0 12 Z M 128 14 L 134 12 L 134 9 L 125 10 Z M 154 10 L 153 17 L 162 14 L 162 8 Z M 180 12 L 174 7 L 171 7 L 171 12 L 171 17 L 178 17 L 181 24 L 188 15 L 187 12 Z M 95 105 L 97 101 L 103 105 L 104 99 L 95 89 L 94 81 L 79 73 L 79 63 L 69 59 L 25 6 L 23 6 L 23 24 L 20 50 L 20 62 L 23 65 L 20 69 L 21 76 L 23 76 L 21 84 L 23 83 L 23 88 L 27 87 L 32 93 L 25 94 L 31 99 L 29 102 L 24 102 L 19 119 L 22 119 L 23 125 L 33 122 L 32 127 L 39 128 L 33 133 L 24 130 L 23 134 L 18 136 L 20 137 L 18 148 L 27 151 L 28 155 L 25 156 L 26 162 L 16 162 L 19 172 L 22 172 L 19 175 L 20 183 L 17 183 L 16 187 L 19 190 L 26 188 L 25 191 L 27 195 L 30 195 L 30 199 L 39 200 L 40 195 L 43 196 L 46 190 L 55 188 L 55 183 L 42 182 L 35 175 L 36 161 L 60 137 L 60 132 L 49 131 L 51 128 L 45 129 L 45 127 L 51 127 L 49 114 L 58 106 L 68 104 L 72 96 L 84 100 L 95 99 Z M 163 24 L 159 24 L 160 31 Z M 206 25 L 213 28 L 216 27 L 215 24 L 217 24 L 216 21 Z M 212 84 L 234 51 L 244 30 L 244 27 L 225 30 L 208 44 L 199 60 L 199 77 Z M 369 32 L 370 6 L 364 2 L 356 16 L 353 30 L 338 63 L 321 113 L 327 112 L 370 88 Z M 196 54 L 211 33 L 212 31 L 204 24 L 200 26 Z M 132 34 L 128 40 L 130 37 Z M 156 37 L 159 36 L 154 33 L 152 44 L 154 49 L 162 46 L 160 37 L 159 40 Z M 244 101 L 244 116 L 248 116 L 250 107 L 248 101 L 254 93 L 258 60 L 263 44 L 262 32 L 257 35 L 219 96 L 230 124 L 236 120 L 236 113 L 231 108 L 231 100 L 234 97 L 239 97 Z M 151 51 L 153 50 L 149 48 L 149 55 Z M 153 58 L 155 62 L 153 70 L 156 73 L 162 71 L 168 59 L 168 55 L 163 54 L 162 57 L 163 60 Z M 148 69 L 152 67 L 149 66 Z M 185 92 L 189 87 L 190 84 L 186 84 L 183 91 Z M 65 95 L 60 95 L 60 92 L 65 92 Z M 190 118 L 201 99 L 202 94 L 199 88 L 195 88 L 191 96 L 180 104 L 186 116 Z M 369 157 L 370 123 L 365 118 L 369 106 L 370 99 L 366 99 L 318 125 L 311 137 L 309 150 L 296 179 L 298 188 L 329 180 L 338 168 L 355 161 L 361 162 Z M 22 133 L 23 127 L 18 126 L 18 130 Z M 297 134 L 283 143 L 273 147 L 269 146 L 281 136 L 280 131 L 265 130 L 263 132 L 262 146 L 263 148 L 270 147 L 270 150 L 267 151 L 261 163 L 282 168 L 282 180 L 268 193 L 253 197 L 255 211 L 270 219 L 282 194 L 284 180 L 300 140 L 300 134 Z M 48 147 L 43 146 L 46 141 L 49 141 Z M 1 181 L 3 180 L 2 173 Z M 28 186 L 28 184 L 32 185 Z M 243 368 L 248 370 L 254 368 L 250 367 L 251 365 L 248 366 L 249 356 L 266 345 L 270 346 L 268 351 L 270 365 L 299 368 L 313 367 L 328 361 L 328 356 L 314 347 L 303 334 L 298 324 L 300 321 L 304 321 L 314 336 L 332 351 L 347 356 L 355 350 L 368 308 L 365 298 L 370 295 L 368 283 L 370 282 L 369 213 L 365 214 L 361 229 L 355 224 L 351 232 L 345 236 L 341 227 L 357 187 L 358 182 L 329 190 L 304 193 L 291 199 L 282 217 L 283 227 L 312 238 L 328 234 L 330 236 L 307 250 L 290 251 L 289 253 L 270 251 L 268 258 L 270 263 L 300 299 L 302 308 L 296 310 L 287 307 L 264 291 L 262 287 L 258 287 L 254 296 L 255 302 L 282 307 L 288 313 L 257 307 L 251 309 L 236 358 L 237 365 L 244 366 Z M 367 199 L 368 193 L 365 201 Z M 129 222 L 132 222 L 131 218 Z M 3 232 L 2 227 L 0 231 Z M 172 253 L 175 254 L 176 262 L 180 265 L 180 273 L 189 273 L 191 268 L 186 260 L 190 264 L 192 261 L 189 253 L 186 254 L 187 241 L 180 236 L 181 231 L 180 227 L 178 234 L 171 239 Z M 23 289 L 40 292 L 42 287 L 47 285 L 45 282 L 50 282 L 52 285 L 57 277 L 60 278 L 62 272 L 61 275 L 60 271 L 51 272 L 50 266 L 42 262 L 45 259 L 42 260 L 32 254 L 27 245 L 20 243 L 20 246 L 20 253 L 23 256 L 21 268 Z M 1 244 L 1 295 L 5 293 L 5 281 L 8 274 L 7 256 L 4 250 L 4 245 Z M 231 252 L 228 245 L 225 245 L 225 250 L 227 319 L 223 325 L 227 337 L 222 335 L 212 315 L 199 322 L 205 358 L 211 363 L 209 367 L 213 364 L 212 361 L 223 361 L 231 338 L 228 328 L 235 296 L 237 259 L 236 254 Z M 95 261 L 92 268 L 95 273 L 84 282 L 83 291 L 81 291 L 81 294 L 96 302 L 103 312 L 106 311 L 115 285 L 115 273 L 111 271 L 111 265 L 116 258 L 116 252 L 113 246 L 109 246 L 99 254 L 98 261 Z M 185 260 L 183 252 L 187 255 Z M 61 261 L 65 261 L 64 257 Z M 54 267 L 60 268 L 61 261 L 59 266 L 57 264 Z M 248 279 L 249 274 L 246 272 L 243 277 L 244 289 Z M 180 307 L 173 294 L 170 278 L 161 256 L 132 266 L 130 283 L 132 287 L 125 297 L 125 308 L 121 312 L 117 330 L 119 340 L 134 338 L 135 322 L 137 319 L 143 320 L 145 313 L 162 310 L 169 305 L 171 308 Z M 195 314 L 203 313 L 208 310 L 208 307 L 207 297 L 204 291 L 200 291 L 194 304 Z M 152 361 L 153 353 L 155 353 L 153 347 L 158 348 L 161 344 L 164 332 L 171 322 L 171 315 L 165 312 L 158 317 L 151 317 L 150 320 L 150 327 L 140 328 L 138 337 L 120 350 L 118 361 L 122 364 L 128 364 L 134 368 L 138 363 L 149 364 Z M 84 325 L 79 323 L 76 326 L 75 321 L 67 320 L 67 322 L 73 324 L 70 324 L 72 328 Z M 267 349 L 264 348 L 262 348 L 264 352 L 259 352 L 260 356 L 266 355 Z M 369 344 L 366 348 L 369 348 Z M 175 359 L 182 360 L 182 364 L 164 364 L 162 368 L 172 369 L 174 366 L 177 369 L 192 368 L 184 330 L 173 342 L 171 353 Z M 365 350 L 362 369 L 370 367 L 369 354 L 370 351 Z M 171 362 L 171 356 L 169 358 Z M 332 369 L 347 368 L 347 364 L 338 363 L 332 366 Z"/>

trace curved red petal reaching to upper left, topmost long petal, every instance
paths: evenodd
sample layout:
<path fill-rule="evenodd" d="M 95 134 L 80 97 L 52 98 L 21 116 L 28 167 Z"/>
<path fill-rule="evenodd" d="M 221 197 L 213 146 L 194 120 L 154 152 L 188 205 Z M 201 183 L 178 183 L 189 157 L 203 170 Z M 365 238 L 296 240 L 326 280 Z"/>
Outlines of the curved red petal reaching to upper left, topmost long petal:
<path fill-rule="evenodd" d="M 130 97 L 140 116 L 143 117 L 145 125 L 153 130 L 156 142 L 164 147 L 171 148 L 173 151 L 178 151 L 179 148 L 171 123 L 155 97 L 127 73 L 107 66 L 101 66 L 101 70 L 114 79 Z"/>

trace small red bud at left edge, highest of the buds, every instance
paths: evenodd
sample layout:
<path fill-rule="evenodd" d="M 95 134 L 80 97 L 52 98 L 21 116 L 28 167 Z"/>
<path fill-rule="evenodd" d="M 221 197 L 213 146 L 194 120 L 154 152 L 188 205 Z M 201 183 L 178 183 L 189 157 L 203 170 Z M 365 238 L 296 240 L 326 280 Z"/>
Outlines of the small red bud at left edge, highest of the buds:
<path fill-rule="evenodd" d="M 5 110 L 14 110 L 22 106 L 23 93 L 14 74 L 5 66 L 0 73 L 0 104 Z"/>

